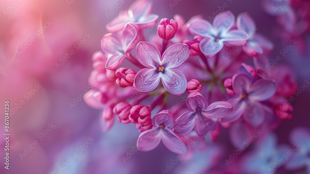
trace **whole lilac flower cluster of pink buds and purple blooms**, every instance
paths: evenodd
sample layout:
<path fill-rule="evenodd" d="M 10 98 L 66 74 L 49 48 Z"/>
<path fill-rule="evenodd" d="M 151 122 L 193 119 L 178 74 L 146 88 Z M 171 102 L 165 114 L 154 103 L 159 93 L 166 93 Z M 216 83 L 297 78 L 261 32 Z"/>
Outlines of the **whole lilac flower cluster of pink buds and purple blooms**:
<path fill-rule="evenodd" d="M 249 14 L 235 18 L 224 11 L 212 23 L 175 15 L 157 25 L 151 11 L 147 0 L 122 11 L 106 26 L 111 33 L 101 40 L 103 52 L 93 55 L 93 89 L 84 100 L 102 109 L 103 131 L 117 118 L 136 125 L 139 150 L 162 141 L 181 153 L 189 135 L 215 141 L 221 127 L 231 127 L 232 144 L 238 146 L 243 135 L 291 118 L 287 99 L 297 87 L 294 77 L 278 66 L 266 71 L 273 44 L 256 32 Z M 155 26 L 157 33 L 146 35 Z"/>

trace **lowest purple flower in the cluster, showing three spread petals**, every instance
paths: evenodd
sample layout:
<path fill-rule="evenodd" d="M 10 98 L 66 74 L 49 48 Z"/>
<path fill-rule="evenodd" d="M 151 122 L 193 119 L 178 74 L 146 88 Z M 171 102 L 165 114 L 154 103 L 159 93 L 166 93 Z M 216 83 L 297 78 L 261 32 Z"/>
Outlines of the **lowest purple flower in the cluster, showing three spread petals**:
<path fill-rule="evenodd" d="M 174 153 L 186 151 L 186 140 L 183 136 L 176 135 L 171 129 L 173 117 L 169 110 L 159 112 L 152 118 L 153 129 L 142 132 L 137 140 L 137 148 L 141 151 L 155 149 L 160 141 L 167 149 Z"/>

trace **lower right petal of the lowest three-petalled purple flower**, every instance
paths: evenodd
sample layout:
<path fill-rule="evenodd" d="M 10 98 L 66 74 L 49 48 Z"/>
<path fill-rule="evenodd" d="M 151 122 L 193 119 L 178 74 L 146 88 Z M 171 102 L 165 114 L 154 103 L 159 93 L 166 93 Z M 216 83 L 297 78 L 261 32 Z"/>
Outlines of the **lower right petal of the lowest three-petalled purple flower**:
<path fill-rule="evenodd" d="M 187 151 L 186 140 L 184 137 L 176 135 L 170 129 L 162 130 L 162 143 L 174 153 L 182 153 Z"/>

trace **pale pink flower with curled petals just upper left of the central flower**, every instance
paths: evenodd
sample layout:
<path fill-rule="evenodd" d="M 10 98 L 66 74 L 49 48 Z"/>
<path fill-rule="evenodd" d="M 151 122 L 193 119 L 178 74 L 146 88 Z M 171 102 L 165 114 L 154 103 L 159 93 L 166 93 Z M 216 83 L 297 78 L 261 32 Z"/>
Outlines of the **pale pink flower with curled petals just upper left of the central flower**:
<path fill-rule="evenodd" d="M 101 39 L 101 48 L 108 54 L 108 60 L 105 67 L 114 70 L 121 65 L 125 58 L 132 58 L 131 50 L 137 44 L 137 31 L 135 26 L 128 24 L 122 32 L 122 37 L 108 33 Z"/>

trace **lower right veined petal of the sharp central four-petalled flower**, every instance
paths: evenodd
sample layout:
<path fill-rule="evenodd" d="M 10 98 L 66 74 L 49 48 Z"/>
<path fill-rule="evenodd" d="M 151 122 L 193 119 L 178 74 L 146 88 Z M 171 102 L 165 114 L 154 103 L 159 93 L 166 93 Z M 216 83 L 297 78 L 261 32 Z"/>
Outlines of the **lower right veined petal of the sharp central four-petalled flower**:
<path fill-rule="evenodd" d="M 165 73 L 161 75 L 162 84 L 171 94 L 183 94 L 187 87 L 187 81 L 184 74 L 175 69 L 165 69 Z"/>

